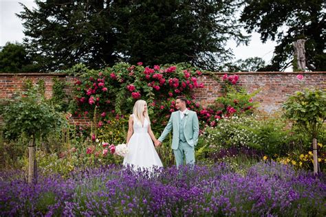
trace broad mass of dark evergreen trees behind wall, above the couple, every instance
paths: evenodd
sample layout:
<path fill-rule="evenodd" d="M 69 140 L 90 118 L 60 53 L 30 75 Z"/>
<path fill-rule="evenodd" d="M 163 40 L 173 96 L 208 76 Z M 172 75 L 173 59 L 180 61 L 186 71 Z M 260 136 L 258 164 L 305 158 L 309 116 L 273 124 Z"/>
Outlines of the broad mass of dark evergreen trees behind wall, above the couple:
<path fill-rule="evenodd" d="M 246 43 L 233 16 L 237 1 L 36 0 L 18 16 L 29 52 L 45 70 L 83 62 L 92 68 L 124 60 L 145 65 L 192 62 L 216 69 L 232 56 L 226 41 Z"/>

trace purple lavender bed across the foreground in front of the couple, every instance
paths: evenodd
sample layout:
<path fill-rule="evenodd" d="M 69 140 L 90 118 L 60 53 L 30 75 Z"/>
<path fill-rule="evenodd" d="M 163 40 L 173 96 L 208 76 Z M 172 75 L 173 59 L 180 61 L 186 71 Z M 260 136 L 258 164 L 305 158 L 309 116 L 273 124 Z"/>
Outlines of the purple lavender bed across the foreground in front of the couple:
<path fill-rule="evenodd" d="M 325 175 L 261 161 L 245 175 L 225 163 L 131 172 L 116 165 L 28 185 L 3 173 L 0 216 L 325 216 Z"/>

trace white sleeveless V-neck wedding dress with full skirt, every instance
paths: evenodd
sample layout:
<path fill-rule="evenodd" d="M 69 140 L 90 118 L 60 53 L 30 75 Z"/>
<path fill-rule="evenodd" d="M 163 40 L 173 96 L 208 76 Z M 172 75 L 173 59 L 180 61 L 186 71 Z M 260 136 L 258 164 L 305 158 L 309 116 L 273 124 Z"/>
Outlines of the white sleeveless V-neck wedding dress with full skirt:
<path fill-rule="evenodd" d="M 149 121 L 144 119 L 144 126 L 135 115 L 133 116 L 133 135 L 129 139 L 128 154 L 124 157 L 123 165 L 133 166 L 134 170 L 149 170 L 161 168 L 162 161 L 157 155 L 153 141 L 149 136 Z"/>

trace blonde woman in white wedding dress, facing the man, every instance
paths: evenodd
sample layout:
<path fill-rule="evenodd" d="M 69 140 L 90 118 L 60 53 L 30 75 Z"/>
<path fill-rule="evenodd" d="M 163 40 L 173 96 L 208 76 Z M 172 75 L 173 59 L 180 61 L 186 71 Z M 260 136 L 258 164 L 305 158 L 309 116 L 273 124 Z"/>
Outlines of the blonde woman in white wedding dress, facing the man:
<path fill-rule="evenodd" d="M 135 170 L 152 170 L 162 167 L 162 161 L 157 155 L 153 141 L 156 142 L 152 130 L 147 103 L 138 100 L 133 106 L 133 114 L 129 117 L 127 134 L 128 154 L 124 157 L 123 165 L 133 166 Z"/>

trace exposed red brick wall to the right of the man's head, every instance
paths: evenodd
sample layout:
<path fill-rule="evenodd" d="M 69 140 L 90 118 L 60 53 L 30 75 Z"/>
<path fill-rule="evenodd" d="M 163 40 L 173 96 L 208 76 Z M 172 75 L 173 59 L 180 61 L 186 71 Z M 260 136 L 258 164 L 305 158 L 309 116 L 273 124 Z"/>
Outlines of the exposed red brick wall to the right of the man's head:
<path fill-rule="evenodd" d="M 296 76 L 303 75 L 303 80 L 298 80 Z M 220 78 L 224 73 L 215 73 Z M 312 87 L 326 89 L 326 72 L 241 72 L 237 73 L 239 83 L 246 87 L 249 93 L 260 89 L 254 100 L 260 102 L 259 109 L 268 113 L 273 113 L 285 102 L 288 95 L 295 91 Z M 205 84 L 205 89 L 195 90 L 197 100 L 204 106 L 214 102 L 219 96 L 221 86 L 208 75 L 203 75 L 199 82 Z"/>

